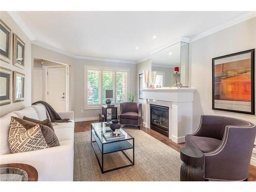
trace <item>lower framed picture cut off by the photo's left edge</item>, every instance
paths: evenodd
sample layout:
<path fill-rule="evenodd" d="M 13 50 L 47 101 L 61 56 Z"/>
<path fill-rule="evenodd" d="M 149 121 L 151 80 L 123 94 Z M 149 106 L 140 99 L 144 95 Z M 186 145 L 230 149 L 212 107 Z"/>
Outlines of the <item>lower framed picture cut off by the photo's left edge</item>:
<path fill-rule="evenodd" d="M 11 70 L 0 67 L 0 106 L 11 103 L 11 74 Z"/>

